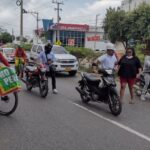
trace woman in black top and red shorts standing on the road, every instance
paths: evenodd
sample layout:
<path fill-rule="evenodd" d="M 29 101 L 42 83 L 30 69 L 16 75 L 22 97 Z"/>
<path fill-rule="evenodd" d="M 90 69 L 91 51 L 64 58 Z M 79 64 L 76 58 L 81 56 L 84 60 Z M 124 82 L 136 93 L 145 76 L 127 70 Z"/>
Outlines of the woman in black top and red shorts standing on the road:
<path fill-rule="evenodd" d="M 133 48 L 128 48 L 126 54 L 118 62 L 118 75 L 120 76 L 120 100 L 123 100 L 126 84 L 128 84 L 131 99 L 130 104 L 134 103 L 133 85 L 135 79 L 141 72 L 141 63 L 135 55 Z"/>

